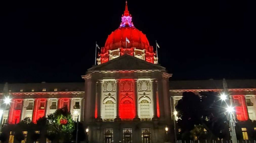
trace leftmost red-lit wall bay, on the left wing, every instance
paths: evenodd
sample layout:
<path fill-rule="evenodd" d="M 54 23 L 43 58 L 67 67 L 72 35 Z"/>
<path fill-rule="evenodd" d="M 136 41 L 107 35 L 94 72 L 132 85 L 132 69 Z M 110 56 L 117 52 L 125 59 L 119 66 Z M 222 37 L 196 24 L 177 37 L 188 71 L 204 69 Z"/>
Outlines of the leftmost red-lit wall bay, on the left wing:
<path fill-rule="evenodd" d="M 20 122 L 20 113 L 22 110 L 22 99 L 15 99 L 10 103 L 8 123 L 15 124 Z"/>

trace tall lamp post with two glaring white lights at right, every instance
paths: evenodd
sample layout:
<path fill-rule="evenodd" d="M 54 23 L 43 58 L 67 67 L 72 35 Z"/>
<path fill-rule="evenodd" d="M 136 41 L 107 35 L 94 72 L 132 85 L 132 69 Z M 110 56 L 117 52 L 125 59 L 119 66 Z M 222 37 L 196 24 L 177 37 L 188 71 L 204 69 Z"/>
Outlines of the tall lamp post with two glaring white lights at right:
<path fill-rule="evenodd" d="M 226 99 L 228 99 L 228 98 L 227 98 L 227 95 L 225 94 L 225 92 L 221 94 L 220 98 L 221 98 L 222 101 L 224 101 L 227 104 L 226 112 L 228 112 L 227 119 L 229 120 L 229 126 L 231 127 L 231 130 L 229 131 L 229 133 L 230 133 L 230 136 L 231 136 L 232 143 L 237 143 L 236 128 L 235 128 L 236 127 L 236 121 L 233 117 L 234 107 L 229 106 L 229 101 L 226 102 Z"/>

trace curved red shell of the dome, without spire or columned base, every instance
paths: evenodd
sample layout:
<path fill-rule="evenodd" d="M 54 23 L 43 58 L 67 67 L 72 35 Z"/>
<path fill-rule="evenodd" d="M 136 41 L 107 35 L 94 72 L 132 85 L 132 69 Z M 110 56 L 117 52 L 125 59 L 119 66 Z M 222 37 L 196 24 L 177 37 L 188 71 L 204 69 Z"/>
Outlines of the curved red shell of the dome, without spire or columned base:
<path fill-rule="evenodd" d="M 126 37 L 130 43 L 126 42 Z M 120 27 L 112 32 L 105 43 L 105 50 L 136 47 L 136 49 L 149 50 L 149 41 L 145 34 L 134 27 Z"/>

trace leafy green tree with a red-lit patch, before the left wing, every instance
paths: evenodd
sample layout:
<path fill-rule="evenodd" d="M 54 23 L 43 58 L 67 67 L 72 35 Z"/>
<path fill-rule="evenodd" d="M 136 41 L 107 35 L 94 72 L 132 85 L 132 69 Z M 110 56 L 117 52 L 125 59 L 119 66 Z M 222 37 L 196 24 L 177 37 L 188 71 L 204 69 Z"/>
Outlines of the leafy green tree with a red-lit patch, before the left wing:
<path fill-rule="evenodd" d="M 57 109 L 47 116 L 47 136 L 49 139 L 57 139 L 60 143 L 70 141 L 74 129 L 74 121 L 67 107 Z"/>

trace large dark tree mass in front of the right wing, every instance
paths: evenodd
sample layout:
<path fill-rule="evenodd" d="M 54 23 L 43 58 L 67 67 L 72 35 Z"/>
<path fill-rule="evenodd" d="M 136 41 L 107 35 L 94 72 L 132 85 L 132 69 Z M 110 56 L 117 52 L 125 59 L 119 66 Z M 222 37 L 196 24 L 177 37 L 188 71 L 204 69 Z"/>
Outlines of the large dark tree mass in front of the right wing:
<path fill-rule="evenodd" d="M 177 123 L 182 132 L 190 132 L 202 125 L 221 139 L 227 136 L 229 127 L 222 104 L 219 93 L 216 92 L 200 92 L 198 95 L 184 92 L 175 107 L 179 117 Z"/>

